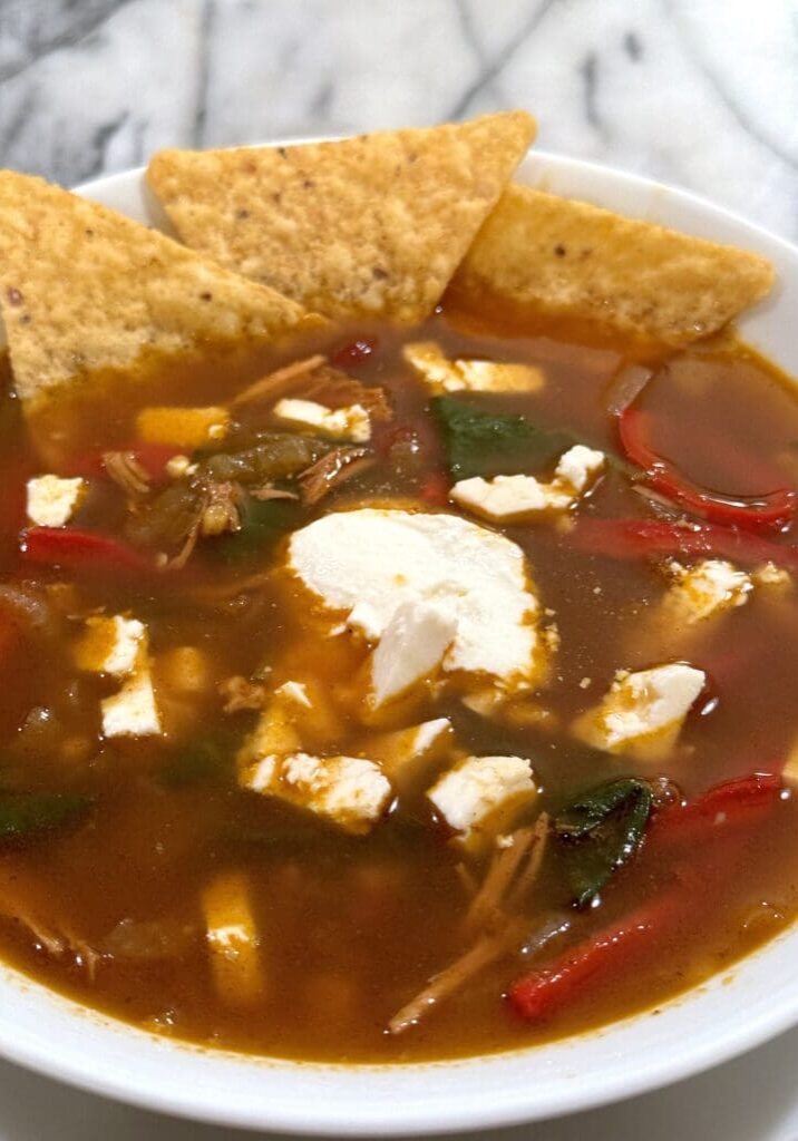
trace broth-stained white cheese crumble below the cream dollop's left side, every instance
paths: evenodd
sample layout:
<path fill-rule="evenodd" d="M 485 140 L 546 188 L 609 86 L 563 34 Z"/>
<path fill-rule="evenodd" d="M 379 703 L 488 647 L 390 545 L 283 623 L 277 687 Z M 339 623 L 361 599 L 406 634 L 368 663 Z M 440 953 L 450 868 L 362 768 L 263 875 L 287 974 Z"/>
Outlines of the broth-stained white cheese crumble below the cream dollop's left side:
<path fill-rule="evenodd" d="M 392 796 L 379 766 L 360 756 L 264 756 L 243 771 L 241 783 L 355 834 L 371 828 Z"/>

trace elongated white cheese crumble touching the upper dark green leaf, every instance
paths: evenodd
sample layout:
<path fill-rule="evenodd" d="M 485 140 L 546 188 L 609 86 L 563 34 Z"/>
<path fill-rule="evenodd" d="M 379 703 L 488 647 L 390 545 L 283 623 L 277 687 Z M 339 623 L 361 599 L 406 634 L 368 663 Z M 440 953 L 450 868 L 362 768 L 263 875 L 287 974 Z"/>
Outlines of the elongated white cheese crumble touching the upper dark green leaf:
<path fill-rule="evenodd" d="M 604 470 L 603 452 L 582 444 L 569 448 L 549 484 L 534 476 L 474 476 L 452 487 L 452 499 L 475 515 L 499 523 L 514 523 L 542 513 L 567 511 Z"/>

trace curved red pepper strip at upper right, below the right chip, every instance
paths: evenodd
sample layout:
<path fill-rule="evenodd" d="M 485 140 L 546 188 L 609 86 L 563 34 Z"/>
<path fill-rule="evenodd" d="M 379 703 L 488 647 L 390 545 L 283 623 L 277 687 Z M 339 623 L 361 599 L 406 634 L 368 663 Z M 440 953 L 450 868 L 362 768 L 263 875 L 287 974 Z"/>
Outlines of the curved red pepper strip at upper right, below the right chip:
<path fill-rule="evenodd" d="M 648 439 L 648 423 L 645 412 L 628 407 L 618 419 L 618 431 L 627 459 L 645 471 L 646 482 L 655 491 L 693 515 L 725 527 L 779 532 L 792 521 L 797 499 L 795 491 L 782 487 L 764 495 L 734 499 L 704 491 L 654 452 Z"/>

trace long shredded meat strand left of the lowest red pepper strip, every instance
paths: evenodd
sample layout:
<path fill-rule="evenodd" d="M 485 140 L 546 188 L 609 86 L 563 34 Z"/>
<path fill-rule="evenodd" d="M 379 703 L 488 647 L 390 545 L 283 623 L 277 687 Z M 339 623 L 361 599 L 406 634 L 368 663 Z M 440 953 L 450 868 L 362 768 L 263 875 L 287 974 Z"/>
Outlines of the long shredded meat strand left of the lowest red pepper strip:
<path fill-rule="evenodd" d="M 497 852 L 466 914 L 465 930 L 475 933 L 476 941 L 394 1014 L 388 1022 L 390 1034 L 416 1026 L 435 1005 L 522 942 L 526 923 L 514 913 L 522 909 L 538 877 L 548 834 L 549 817 L 542 812 L 534 827 L 515 832 L 513 843 Z"/>

